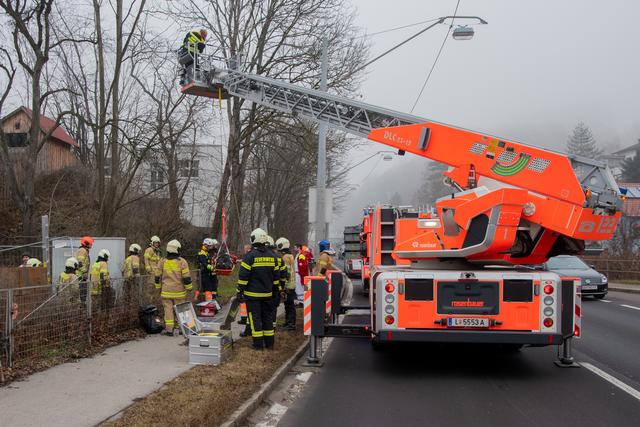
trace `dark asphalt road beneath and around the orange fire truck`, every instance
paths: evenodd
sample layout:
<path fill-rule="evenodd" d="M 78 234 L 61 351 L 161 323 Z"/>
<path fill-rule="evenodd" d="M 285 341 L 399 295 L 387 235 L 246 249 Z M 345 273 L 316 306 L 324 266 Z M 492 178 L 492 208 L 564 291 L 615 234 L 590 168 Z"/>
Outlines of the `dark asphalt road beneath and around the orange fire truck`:
<path fill-rule="evenodd" d="M 584 301 L 576 360 L 640 390 L 640 295 L 612 292 L 606 301 Z M 412 343 L 376 352 L 367 340 L 335 339 L 278 425 L 640 425 L 640 397 L 555 359 L 556 347 Z"/>

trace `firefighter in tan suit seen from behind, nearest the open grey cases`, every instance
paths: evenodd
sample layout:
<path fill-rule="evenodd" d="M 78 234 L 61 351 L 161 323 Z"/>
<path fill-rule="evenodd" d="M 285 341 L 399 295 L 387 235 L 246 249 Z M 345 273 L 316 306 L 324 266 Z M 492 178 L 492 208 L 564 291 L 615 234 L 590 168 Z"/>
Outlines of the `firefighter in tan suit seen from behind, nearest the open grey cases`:
<path fill-rule="evenodd" d="M 185 302 L 187 292 L 193 287 L 189 264 L 180 256 L 181 249 L 177 240 L 167 243 L 167 257 L 160 261 L 160 274 L 155 278 L 164 308 L 164 334 L 169 336 L 173 336 L 176 327 L 173 306 Z"/>

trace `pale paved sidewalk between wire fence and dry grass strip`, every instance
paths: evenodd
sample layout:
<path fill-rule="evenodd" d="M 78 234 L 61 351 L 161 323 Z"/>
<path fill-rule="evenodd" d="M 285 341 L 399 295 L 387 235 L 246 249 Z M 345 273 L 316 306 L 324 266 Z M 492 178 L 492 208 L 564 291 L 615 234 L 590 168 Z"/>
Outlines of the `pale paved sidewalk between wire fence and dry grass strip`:
<path fill-rule="evenodd" d="M 0 388 L 5 426 L 93 426 L 191 367 L 181 337 L 151 335 Z"/>

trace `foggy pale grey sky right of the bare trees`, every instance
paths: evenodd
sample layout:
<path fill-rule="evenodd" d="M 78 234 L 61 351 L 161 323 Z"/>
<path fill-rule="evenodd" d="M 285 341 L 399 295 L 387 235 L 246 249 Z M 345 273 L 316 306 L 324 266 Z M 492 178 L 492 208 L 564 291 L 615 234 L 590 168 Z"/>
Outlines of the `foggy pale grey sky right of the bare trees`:
<path fill-rule="evenodd" d="M 456 1 L 352 3 L 357 25 L 374 33 L 451 15 Z M 579 121 L 603 147 L 640 138 L 640 2 L 462 0 L 458 15 L 489 24 L 474 25 L 472 40 L 446 42 L 415 115 L 558 151 Z M 371 37 L 371 57 L 426 25 Z M 446 31 L 439 25 L 372 64 L 362 100 L 409 112 Z M 353 162 L 384 148 L 371 142 L 366 152 L 354 150 Z M 395 190 L 410 195 L 424 163 L 405 156 L 356 168 L 352 183 L 370 175 L 334 218 L 331 234 L 359 222 L 363 203 L 385 201 Z M 389 179 L 396 175 L 404 183 Z"/>

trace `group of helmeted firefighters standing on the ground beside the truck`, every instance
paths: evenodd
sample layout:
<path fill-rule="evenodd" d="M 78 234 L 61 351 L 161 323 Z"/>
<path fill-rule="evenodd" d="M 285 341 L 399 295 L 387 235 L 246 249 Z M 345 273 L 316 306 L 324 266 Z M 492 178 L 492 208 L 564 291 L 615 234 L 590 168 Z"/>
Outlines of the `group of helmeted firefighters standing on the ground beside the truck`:
<path fill-rule="evenodd" d="M 334 252 L 328 241 L 319 242 L 320 255 L 316 264 L 312 251 L 304 244 L 296 244 L 292 252 L 288 239 L 281 237 L 274 241 L 260 228 L 251 233 L 250 239 L 251 244 L 245 245 L 238 273 L 237 298 L 241 303 L 239 323 L 246 325 L 241 335 L 250 334 L 255 349 L 272 348 L 278 306 L 284 303 L 283 329 L 295 330 L 295 307 L 300 303 L 305 277 L 312 273 L 324 275 L 331 270 Z M 111 254 L 108 249 L 101 249 L 97 260 L 91 263 L 89 251 L 93 243 L 93 238 L 89 236 L 80 240 L 80 247 L 75 255 L 66 260 L 65 270 L 60 273 L 57 286 L 62 289 L 68 285 L 76 285 L 82 301 L 86 301 L 90 286 L 91 295 L 101 296 L 101 304 L 109 304 L 107 296 L 111 294 L 111 288 L 108 262 Z M 160 238 L 152 236 L 144 253 L 139 244 L 131 244 L 122 266 L 122 277 L 125 283 L 143 275 L 148 277 L 148 285 L 154 286 L 162 299 L 165 326 L 163 333 L 173 336 L 174 329 L 177 329 L 173 307 L 187 301 L 187 294 L 193 285 L 189 265 L 180 256 L 180 242 L 168 242 L 165 257 L 161 255 L 160 244 Z M 204 239 L 197 256 L 200 287 L 194 294 L 195 299 L 209 301 L 217 297 L 219 266 L 216 262 L 219 258 L 218 241 Z M 236 262 L 235 257 L 230 256 L 231 268 Z M 40 264 L 37 259 L 25 255 L 23 266 L 38 267 Z"/>

